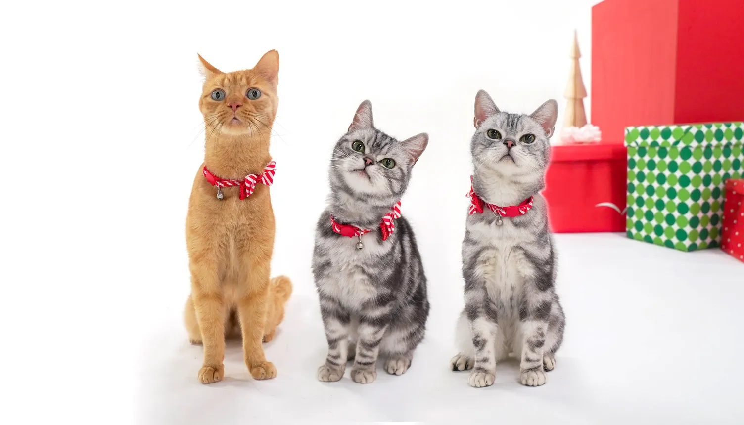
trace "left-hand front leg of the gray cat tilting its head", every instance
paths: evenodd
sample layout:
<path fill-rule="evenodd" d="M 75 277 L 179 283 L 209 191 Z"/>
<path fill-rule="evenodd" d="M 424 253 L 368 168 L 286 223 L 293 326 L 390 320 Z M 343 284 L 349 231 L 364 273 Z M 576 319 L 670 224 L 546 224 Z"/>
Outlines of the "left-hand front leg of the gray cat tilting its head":
<path fill-rule="evenodd" d="M 321 294 L 321 316 L 328 341 L 328 355 L 318 368 L 318 380 L 336 382 L 344 377 L 349 349 L 350 315 L 344 308 Z"/>

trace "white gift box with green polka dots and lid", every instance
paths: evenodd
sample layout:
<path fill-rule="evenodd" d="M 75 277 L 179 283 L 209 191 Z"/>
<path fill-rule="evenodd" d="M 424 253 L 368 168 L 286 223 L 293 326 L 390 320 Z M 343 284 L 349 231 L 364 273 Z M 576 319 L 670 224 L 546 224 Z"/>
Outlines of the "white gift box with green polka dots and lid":
<path fill-rule="evenodd" d="M 743 134 L 744 123 L 627 127 L 628 237 L 718 247 L 725 181 L 744 172 Z"/>

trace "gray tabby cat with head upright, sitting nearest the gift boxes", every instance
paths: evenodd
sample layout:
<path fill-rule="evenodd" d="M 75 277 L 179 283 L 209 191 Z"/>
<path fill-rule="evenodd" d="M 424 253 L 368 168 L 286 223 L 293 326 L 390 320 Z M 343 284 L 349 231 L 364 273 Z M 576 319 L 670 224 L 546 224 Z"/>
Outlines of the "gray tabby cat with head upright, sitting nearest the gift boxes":
<path fill-rule="evenodd" d="M 485 91 L 475 97 L 473 191 L 499 207 L 533 197 L 524 215 L 498 218 L 484 206 L 483 213 L 466 221 L 465 309 L 456 331 L 461 352 L 450 366 L 472 368 L 468 383 L 476 388 L 493 384 L 496 362 L 509 354 L 521 359 L 522 384 L 544 384 L 563 340 L 565 317 L 554 288 L 556 258 L 547 205 L 539 193 L 557 113 L 555 100 L 521 115 L 499 111 Z"/>

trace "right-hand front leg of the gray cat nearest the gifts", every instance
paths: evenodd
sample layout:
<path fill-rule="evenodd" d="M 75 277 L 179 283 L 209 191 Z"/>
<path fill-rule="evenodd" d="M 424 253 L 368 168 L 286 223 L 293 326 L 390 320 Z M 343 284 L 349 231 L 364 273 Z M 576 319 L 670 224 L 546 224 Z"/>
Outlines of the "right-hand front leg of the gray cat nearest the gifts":
<path fill-rule="evenodd" d="M 519 309 L 519 326 L 522 337 L 522 357 L 519 363 L 519 380 L 522 385 L 541 386 L 545 383 L 544 355 L 545 332 L 551 300 L 545 293 L 527 293 Z"/>

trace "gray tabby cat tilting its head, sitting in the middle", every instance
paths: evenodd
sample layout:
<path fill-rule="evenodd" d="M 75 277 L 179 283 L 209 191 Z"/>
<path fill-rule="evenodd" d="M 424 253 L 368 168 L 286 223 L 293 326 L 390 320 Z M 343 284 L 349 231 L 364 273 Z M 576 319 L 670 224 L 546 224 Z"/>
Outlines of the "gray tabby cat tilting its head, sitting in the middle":
<path fill-rule="evenodd" d="M 371 383 L 379 354 L 387 357 L 390 374 L 403 374 L 411 366 L 429 316 L 426 276 L 408 221 L 395 219 L 384 241 L 380 221 L 400 201 L 427 143 L 425 133 L 400 142 L 375 129 L 371 103 L 365 100 L 333 149 L 331 194 L 318 220 L 312 255 L 328 340 L 319 380 L 340 380 L 347 360 L 353 359 L 351 379 Z M 332 216 L 336 223 L 371 231 L 342 236 L 333 230 Z"/>

